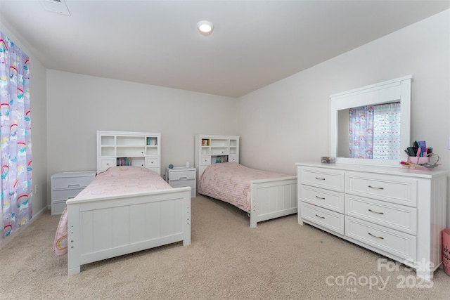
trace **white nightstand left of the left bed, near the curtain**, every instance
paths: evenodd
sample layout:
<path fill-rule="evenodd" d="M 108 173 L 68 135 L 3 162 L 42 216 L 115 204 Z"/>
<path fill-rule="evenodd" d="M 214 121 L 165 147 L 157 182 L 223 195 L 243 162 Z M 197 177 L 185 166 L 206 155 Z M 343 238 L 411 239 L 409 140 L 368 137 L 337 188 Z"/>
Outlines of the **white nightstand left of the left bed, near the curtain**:
<path fill-rule="evenodd" d="M 63 214 L 65 202 L 94 180 L 96 171 L 61 172 L 51 176 L 51 214 Z"/>

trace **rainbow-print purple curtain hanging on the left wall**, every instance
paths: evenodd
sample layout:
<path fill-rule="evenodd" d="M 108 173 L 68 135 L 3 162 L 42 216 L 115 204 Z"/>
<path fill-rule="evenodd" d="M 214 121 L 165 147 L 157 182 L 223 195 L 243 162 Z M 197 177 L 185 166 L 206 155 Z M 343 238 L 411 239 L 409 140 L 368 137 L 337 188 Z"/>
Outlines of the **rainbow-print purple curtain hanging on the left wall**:
<path fill-rule="evenodd" d="M 0 162 L 3 237 L 32 218 L 29 60 L 0 32 Z"/>

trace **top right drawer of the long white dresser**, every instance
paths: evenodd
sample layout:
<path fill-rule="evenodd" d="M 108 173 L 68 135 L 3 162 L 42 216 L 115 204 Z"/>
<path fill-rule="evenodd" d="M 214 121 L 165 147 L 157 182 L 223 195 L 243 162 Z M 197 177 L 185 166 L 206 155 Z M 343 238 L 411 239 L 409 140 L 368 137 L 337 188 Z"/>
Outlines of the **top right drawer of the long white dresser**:
<path fill-rule="evenodd" d="M 417 205 L 416 179 L 347 172 L 345 185 L 348 194 L 371 197 L 410 207 Z"/>

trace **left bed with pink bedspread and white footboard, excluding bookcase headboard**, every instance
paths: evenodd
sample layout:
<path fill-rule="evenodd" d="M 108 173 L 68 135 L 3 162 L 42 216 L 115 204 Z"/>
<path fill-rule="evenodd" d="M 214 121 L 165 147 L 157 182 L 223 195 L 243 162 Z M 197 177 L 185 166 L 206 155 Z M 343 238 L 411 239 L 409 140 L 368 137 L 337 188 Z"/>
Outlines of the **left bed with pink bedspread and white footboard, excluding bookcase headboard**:
<path fill-rule="evenodd" d="M 67 201 L 53 250 L 67 251 L 72 275 L 85 263 L 180 241 L 191 244 L 191 188 L 172 188 L 154 171 L 124 166 L 98 174 Z"/>

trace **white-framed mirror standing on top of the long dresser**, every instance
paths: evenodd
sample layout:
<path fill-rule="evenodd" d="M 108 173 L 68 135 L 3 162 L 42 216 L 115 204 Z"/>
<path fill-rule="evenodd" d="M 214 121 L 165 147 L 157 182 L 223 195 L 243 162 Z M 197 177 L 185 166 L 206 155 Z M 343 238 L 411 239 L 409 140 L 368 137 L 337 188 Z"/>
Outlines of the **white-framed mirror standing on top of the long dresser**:
<path fill-rule="evenodd" d="M 399 166 L 401 160 L 407 159 L 404 149 L 408 148 L 411 144 L 412 78 L 412 75 L 409 75 L 330 96 L 330 156 L 336 157 L 336 162 Z M 349 116 L 350 111 L 352 111 L 352 113 L 356 111 L 356 107 L 359 107 L 359 109 L 361 109 L 361 107 L 369 107 L 370 114 L 375 115 L 375 122 L 373 123 L 372 128 L 374 132 L 373 136 L 375 137 L 373 145 L 380 145 L 380 143 L 376 143 L 376 132 L 378 132 L 376 119 L 377 116 L 381 115 L 380 111 L 387 110 L 391 112 L 391 114 L 388 114 L 386 111 L 383 111 L 384 115 L 392 115 L 392 111 L 396 111 L 395 114 L 399 117 L 399 120 L 397 119 L 400 129 L 399 139 L 397 143 L 384 144 L 386 147 L 396 148 L 397 151 L 395 155 L 388 156 L 385 154 L 385 152 L 387 152 L 385 150 L 376 151 L 378 146 L 375 146 L 375 149 L 373 149 L 371 148 L 372 143 L 370 142 L 367 143 L 367 146 L 364 145 L 364 147 L 367 147 L 368 150 L 366 152 L 368 152 L 369 155 L 359 155 L 356 152 L 356 150 L 359 149 L 356 147 L 355 153 L 352 153 L 352 155 L 359 158 L 349 157 L 349 154 L 354 151 L 350 148 L 350 145 L 353 145 L 353 143 L 350 143 L 349 141 Z M 375 113 L 373 111 L 375 111 Z M 361 137 L 361 139 L 364 141 L 364 137 Z M 359 141 L 355 144 L 356 146 L 359 146 Z"/>

